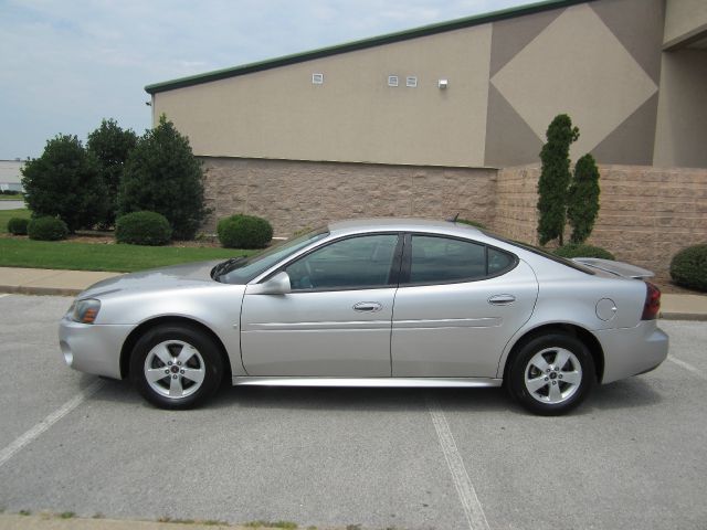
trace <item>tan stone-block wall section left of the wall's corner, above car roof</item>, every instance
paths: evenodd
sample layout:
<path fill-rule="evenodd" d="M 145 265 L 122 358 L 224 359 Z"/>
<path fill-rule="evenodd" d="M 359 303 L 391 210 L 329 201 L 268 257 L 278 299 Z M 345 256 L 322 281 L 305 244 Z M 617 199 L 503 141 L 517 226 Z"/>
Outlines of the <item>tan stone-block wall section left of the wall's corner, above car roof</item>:
<path fill-rule="evenodd" d="M 207 205 L 218 219 L 249 213 L 288 236 L 361 216 L 463 219 L 490 223 L 495 169 L 204 158 Z"/>

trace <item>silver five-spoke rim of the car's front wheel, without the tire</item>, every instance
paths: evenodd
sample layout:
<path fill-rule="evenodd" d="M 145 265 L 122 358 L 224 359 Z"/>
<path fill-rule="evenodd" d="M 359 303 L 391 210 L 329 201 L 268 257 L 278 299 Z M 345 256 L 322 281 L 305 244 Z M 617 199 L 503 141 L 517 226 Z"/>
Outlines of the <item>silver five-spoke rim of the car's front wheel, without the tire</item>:
<path fill-rule="evenodd" d="M 197 392 L 207 374 L 199 350 L 182 340 L 155 346 L 145 359 L 145 380 L 165 398 L 179 400 Z"/>

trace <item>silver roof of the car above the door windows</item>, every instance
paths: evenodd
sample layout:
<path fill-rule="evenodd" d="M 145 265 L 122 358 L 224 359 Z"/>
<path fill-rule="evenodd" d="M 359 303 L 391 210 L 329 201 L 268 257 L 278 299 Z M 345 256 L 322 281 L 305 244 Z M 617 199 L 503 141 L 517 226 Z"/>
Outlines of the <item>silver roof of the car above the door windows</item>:
<path fill-rule="evenodd" d="M 416 218 L 369 218 L 335 221 L 328 224 L 333 235 L 345 235 L 358 232 L 435 232 L 444 234 L 461 233 L 469 235 L 469 231 L 479 233 L 478 229 L 463 223 L 435 221 Z"/>

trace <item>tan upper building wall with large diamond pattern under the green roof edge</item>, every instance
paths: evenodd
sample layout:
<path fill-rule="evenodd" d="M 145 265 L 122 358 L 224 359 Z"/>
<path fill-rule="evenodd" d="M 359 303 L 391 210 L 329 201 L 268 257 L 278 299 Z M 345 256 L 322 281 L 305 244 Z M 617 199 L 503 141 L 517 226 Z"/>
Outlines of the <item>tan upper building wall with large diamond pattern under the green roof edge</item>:
<path fill-rule="evenodd" d="M 152 105 L 200 156 L 506 167 L 537 160 L 568 113 L 573 158 L 650 165 L 663 24 L 664 0 L 595 0 L 158 92 Z"/>

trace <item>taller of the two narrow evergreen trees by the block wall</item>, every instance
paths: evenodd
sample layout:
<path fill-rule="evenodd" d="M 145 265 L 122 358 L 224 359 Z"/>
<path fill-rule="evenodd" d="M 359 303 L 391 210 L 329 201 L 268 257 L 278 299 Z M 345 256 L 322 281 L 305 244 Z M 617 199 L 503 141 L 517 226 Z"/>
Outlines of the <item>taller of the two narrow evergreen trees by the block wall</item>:
<path fill-rule="evenodd" d="M 567 221 L 567 190 L 570 184 L 570 145 L 579 138 L 567 114 L 552 119 L 547 130 L 547 144 L 540 151 L 542 169 L 538 181 L 538 235 L 540 244 L 559 239 L 563 243 Z"/>

